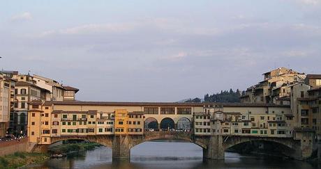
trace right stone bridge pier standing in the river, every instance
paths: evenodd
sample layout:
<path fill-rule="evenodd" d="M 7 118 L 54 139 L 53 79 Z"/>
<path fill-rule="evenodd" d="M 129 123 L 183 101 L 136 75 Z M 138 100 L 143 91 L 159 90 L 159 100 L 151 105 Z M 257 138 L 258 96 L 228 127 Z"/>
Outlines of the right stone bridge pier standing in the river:
<path fill-rule="evenodd" d="M 209 136 L 207 147 L 203 148 L 204 159 L 224 159 L 224 147 L 222 136 Z"/>

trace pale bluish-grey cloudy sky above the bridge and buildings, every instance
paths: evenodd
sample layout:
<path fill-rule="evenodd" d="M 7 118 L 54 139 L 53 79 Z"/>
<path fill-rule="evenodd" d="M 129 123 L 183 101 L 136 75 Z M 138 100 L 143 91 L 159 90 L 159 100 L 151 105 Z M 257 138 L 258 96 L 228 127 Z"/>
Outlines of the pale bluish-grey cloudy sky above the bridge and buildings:
<path fill-rule="evenodd" d="M 321 74 L 321 0 L 0 0 L 0 68 L 86 101 L 177 102 Z"/>

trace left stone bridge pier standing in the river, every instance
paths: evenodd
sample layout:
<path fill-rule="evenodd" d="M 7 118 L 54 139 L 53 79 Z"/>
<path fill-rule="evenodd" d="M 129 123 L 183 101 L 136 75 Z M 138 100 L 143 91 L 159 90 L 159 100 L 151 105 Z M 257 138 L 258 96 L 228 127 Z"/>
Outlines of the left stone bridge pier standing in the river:
<path fill-rule="evenodd" d="M 116 135 L 112 140 L 112 160 L 129 160 L 130 159 L 130 144 L 128 136 Z"/>

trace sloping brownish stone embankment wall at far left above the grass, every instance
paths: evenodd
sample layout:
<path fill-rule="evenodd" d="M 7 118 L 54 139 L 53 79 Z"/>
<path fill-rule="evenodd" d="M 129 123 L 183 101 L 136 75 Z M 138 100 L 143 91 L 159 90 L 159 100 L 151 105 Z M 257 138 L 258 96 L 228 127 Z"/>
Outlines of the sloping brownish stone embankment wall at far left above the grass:
<path fill-rule="evenodd" d="M 20 140 L 10 140 L 0 143 L 0 156 L 13 154 L 15 152 L 26 152 L 28 147 L 28 138 Z"/>

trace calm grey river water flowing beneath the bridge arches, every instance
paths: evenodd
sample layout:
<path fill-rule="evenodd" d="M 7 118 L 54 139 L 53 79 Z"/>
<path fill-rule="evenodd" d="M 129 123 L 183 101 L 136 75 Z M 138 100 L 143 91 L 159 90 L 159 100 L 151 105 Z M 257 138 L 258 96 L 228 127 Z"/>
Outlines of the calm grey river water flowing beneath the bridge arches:
<path fill-rule="evenodd" d="M 202 148 L 186 142 L 145 142 L 133 147 L 130 163 L 112 163 L 112 150 L 70 154 L 64 159 L 49 159 L 27 168 L 316 168 L 301 161 L 283 160 L 225 152 L 223 161 L 203 161 Z"/>

